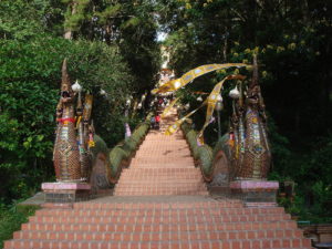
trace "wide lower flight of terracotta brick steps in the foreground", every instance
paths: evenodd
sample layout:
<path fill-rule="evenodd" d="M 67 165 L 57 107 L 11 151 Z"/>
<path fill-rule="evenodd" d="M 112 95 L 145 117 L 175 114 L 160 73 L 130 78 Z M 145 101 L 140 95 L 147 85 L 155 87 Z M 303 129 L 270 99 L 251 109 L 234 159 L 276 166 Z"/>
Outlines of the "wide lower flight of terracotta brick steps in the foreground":
<path fill-rule="evenodd" d="M 41 209 L 4 248 L 310 248 L 282 208 L 203 196 L 106 197 Z"/>

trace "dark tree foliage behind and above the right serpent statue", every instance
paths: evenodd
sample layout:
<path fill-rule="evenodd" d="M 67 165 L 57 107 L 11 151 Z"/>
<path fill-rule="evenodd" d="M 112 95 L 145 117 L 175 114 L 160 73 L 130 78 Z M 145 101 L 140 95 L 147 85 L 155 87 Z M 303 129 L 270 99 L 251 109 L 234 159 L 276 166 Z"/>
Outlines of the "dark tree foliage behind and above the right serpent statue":
<path fill-rule="evenodd" d="M 311 219 L 325 217 L 322 208 L 326 204 L 317 193 L 330 189 L 332 175 L 328 135 L 332 125 L 331 2 L 160 0 L 159 4 L 159 22 L 169 32 L 164 44 L 178 75 L 201 64 L 251 63 L 252 54 L 258 54 L 259 82 L 269 114 L 273 160 L 270 178 L 295 180 L 301 189 L 295 209 L 311 210 L 318 205 L 315 211 L 311 210 Z M 181 91 L 184 103 L 196 108 L 199 103 L 193 91 L 210 92 L 218 80 L 230 73 L 249 79 L 251 74 L 246 70 L 222 70 L 203 76 Z M 234 82 L 228 82 L 222 91 L 221 131 L 228 127 L 231 114 L 231 85 Z M 204 116 L 205 112 L 193 116 L 197 128 Z M 205 132 L 210 145 L 217 142 L 214 129 L 216 124 Z M 314 188 L 320 180 L 324 187 Z"/>

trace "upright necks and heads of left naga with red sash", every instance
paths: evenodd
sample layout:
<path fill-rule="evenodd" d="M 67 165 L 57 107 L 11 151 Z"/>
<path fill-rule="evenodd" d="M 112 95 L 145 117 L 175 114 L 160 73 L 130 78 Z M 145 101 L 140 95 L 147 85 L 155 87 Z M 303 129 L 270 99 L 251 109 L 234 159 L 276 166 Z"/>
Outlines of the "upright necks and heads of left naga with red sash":
<path fill-rule="evenodd" d="M 76 93 L 72 90 L 66 71 L 66 60 L 64 60 L 62 65 L 61 96 L 56 106 L 58 128 L 53 152 L 58 181 L 86 180 L 91 166 L 87 142 L 92 96 L 86 96 L 84 108 L 80 92 L 77 101 L 75 98 Z M 77 102 L 76 107 L 75 102 Z M 77 116 L 79 132 L 75 129 L 75 115 Z M 82 116 L 83 122 L 81 122 Z"/>

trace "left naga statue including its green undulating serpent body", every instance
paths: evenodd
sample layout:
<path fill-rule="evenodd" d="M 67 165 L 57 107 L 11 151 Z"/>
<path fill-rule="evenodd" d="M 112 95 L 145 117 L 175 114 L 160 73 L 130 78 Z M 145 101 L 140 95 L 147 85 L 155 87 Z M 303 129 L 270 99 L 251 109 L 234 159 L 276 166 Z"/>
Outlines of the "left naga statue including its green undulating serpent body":
<path fill-rule="evenodd" d="M 66 64 L 64 60 L 56 105 L 58 126 L 53 149 L 55 177 L 60 183 L 89 183 L 92 193 L 96 194 L 117 181 L 122 168 L 128 166 L 144 139 L 149 122 L 143 122 L 131 137 L 108 149 L 106 143 L 94 134 L 91 120 L 93 96 L 83 96 L 81 86 L 72 87 Z"/>

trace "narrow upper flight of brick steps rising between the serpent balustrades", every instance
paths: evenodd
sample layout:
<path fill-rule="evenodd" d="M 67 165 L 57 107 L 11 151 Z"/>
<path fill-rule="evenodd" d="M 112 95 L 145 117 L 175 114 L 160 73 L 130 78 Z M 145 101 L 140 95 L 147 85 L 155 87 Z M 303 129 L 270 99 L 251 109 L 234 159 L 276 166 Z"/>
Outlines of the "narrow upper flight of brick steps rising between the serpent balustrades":
<path fill-rule="evenodd" d="M 175 120 L 173 110 L 162 121 L 159 131 L 147 134 L 131 167 L 121 174 L 115 196 L 208 195 L 181 132 L 163 134 Z"/>

